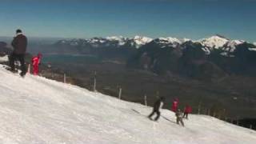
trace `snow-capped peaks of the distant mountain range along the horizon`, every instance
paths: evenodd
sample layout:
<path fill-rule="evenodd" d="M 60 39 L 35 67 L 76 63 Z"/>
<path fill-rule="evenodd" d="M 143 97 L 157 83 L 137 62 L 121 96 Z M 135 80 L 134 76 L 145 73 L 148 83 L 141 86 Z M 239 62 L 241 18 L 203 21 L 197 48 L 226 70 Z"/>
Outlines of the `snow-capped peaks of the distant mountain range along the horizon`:
<path fill-rule="evenodd" d="M 183 38 L 147 38 L 142 36 L 135 36 L 134 38 L 125 38 L 122 36 L 114 36 L 114 37 L 106 37 L 106 38 L 90 38 L 90 39 L 66 39 L 57 42 L 61 45 L 69 45 L 69 46 L 91 46 L 93 48 L 97 47 L 122 47 L 122 46 L 134 46 L 136 48 L 140 48 L 141 46 L 145 46 L 150 42 L 155 42 L 162 48 L 166 47 L 174 47 L 177 48 L 182 46 L 185 42 L 198 42 L 202 45 L 202 50 L 206 51 L 206 54 L 210 54 L 211 50 L 221 49 L 224 51 L 233 52 L 235 46 L 242 44 L 243 40 L 230 40 L 228 38 L 224 38 L 220 35 L 214 35 L 210 38 L 202 38 L 197 41 Z M 254 42 L 256 46 L 256 42 Z"/>

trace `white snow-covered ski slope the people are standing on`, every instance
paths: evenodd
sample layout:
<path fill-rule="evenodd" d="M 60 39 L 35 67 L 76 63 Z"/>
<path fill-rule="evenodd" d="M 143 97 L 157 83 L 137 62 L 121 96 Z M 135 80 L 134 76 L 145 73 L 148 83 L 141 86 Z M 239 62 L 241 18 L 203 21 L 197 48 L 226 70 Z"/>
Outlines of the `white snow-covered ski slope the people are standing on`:
<path fill-rule="evenodd" d="M 0 65 L 0 143 L 86 144 L 255 144 L 256 132 L 204 115 L 186 127 L 162 110 L 120 101 L 61 82 L 26 75 Z"/>

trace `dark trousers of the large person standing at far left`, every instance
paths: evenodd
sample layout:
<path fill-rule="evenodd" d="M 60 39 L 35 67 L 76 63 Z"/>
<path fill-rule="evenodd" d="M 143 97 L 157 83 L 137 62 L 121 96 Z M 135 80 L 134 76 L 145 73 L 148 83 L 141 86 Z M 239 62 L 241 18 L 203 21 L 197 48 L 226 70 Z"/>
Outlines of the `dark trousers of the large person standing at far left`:
<path fill-rule="evenodd" d="M 26 74 L 26 65 L 25 65 L 25 54 L 10 54 L 10 70 L 15 70 L 14 62 L 18 60 L 21 63 L 21 75 L 24 76 Z"/>

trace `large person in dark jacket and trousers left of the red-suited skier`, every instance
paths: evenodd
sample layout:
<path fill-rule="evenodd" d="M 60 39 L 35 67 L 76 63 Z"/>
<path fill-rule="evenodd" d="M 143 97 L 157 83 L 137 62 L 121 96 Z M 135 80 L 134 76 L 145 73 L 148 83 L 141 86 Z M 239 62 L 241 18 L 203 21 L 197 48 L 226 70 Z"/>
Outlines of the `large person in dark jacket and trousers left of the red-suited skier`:
<path fill-rule="evenodd" d="M 21 76 L 24 77 L 26 74 L 26 65 L 25 65 L 25 54 L 27 46 L 27 38 L 22 34 L 22 30 L 16 30 L 16 37 L 11 42 L 11 45 L 14 47 L 14 51 L 10 54 L 10 70 L 15 71 L 15 60 L 18 60 L 21 63 Z"/>

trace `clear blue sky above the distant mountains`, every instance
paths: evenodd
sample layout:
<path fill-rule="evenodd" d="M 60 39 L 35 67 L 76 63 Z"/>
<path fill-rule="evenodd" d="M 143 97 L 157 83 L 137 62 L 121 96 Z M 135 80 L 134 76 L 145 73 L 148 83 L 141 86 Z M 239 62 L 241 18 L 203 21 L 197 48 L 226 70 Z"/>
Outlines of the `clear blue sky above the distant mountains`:
<path fill-rule="evenodd" d="M 227 38 L 256 42 L 254 0 L 2 0 L 0 35 Z"/>

